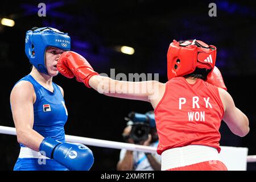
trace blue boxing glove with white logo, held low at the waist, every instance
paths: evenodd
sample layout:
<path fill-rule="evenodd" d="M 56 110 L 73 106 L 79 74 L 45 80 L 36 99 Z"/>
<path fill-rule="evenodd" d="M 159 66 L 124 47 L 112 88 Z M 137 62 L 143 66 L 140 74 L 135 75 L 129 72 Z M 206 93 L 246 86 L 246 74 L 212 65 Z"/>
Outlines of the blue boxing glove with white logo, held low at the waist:
<path fill-rule="evenodd" d="M 61 143 L 46 137 L 40 144 L 39 150 L 71 171 L 88 171 L 94 162 L 92 151 L 80 143 Z"/>

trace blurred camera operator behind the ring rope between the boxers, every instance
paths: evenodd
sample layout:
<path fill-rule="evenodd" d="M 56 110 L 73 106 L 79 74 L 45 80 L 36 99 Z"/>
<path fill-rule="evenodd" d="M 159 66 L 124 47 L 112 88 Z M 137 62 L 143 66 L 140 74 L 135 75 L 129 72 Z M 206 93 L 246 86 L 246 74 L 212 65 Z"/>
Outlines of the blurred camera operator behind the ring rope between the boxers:
<path fill-rule="evenodd" d="M 155 126 L 154 111 L 146 114 L 130 113 L 126 118 L 127 126 L 123 130 L 123 139 L 127 143 L 144 146 L 158 146 L 158 133 Z M 118 171 L 160 171 L 161 158 L 155 153 L 130 151 L 122 149 L 120 152 Z"/>

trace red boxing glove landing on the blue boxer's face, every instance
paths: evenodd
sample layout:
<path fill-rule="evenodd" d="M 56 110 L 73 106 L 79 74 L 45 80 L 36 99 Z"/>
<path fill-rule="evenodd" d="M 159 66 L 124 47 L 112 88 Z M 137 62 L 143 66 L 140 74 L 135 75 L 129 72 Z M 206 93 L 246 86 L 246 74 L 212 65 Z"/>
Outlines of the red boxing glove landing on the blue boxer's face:
<path fill-rule="evenodd" d="M 60 55 L 57 69 L 65 77 L 73 78 L 72 74 L 75 75 L 76 80 L 83 82 L 88 88 L 90 77 L 98 75 L 84 57 L 73 51 L 66 51 Z"/>

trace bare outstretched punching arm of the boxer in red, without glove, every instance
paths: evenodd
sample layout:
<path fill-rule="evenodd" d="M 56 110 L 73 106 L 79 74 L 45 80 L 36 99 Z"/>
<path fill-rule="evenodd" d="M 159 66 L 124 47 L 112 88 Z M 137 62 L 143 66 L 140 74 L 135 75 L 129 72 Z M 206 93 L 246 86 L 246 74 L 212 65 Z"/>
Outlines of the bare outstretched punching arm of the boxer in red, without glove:
<path fill-rule="evenodd" d="M 118 81 L 105 76 L 92 76 L 89 85 L 106 96 L 151 102 L 159 97 L 158 81 Z"/>

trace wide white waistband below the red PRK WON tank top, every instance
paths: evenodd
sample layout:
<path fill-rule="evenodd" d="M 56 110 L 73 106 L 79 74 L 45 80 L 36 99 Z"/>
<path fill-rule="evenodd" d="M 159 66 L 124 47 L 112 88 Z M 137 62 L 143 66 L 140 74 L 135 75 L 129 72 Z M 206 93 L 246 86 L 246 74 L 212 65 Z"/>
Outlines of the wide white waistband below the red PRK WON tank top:
<path fill-rule="evenodd" d="M 220 160 L 220 156 L 216 148 L 201 145 L 171 148 L 164 151 L 161 158 L 162 171 L 209 160 Z"/>

